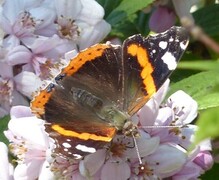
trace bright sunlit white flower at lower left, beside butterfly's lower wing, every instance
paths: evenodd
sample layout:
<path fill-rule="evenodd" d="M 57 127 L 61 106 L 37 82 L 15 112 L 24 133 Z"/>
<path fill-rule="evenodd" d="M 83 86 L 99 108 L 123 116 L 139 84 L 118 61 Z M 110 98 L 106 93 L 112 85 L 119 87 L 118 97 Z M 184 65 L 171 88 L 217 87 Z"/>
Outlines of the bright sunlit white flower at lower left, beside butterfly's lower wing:
<path fill-rule="evenodd" d="M 49 158 L 53 141 L 45 133 L 44 121 L 34 117 L 30 108 L 15 106 L 5 136 L 10 150 L 17 156 L 14 178 L 36 179 L 52 175 L 46 158 Z"/>

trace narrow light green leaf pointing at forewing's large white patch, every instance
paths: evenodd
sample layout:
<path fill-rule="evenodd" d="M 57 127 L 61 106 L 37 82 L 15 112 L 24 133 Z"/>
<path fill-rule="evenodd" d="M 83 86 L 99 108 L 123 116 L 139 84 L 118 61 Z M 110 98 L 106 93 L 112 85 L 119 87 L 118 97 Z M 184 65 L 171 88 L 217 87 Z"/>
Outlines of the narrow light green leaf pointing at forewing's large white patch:
<path fill-rule="evenodd" d="M 219 61 L 214 60 L 200 60 L 200 61 L 181 61 L 178 65 L 179 69 L 191 69 L 191 70 L 218 70 Z"/>

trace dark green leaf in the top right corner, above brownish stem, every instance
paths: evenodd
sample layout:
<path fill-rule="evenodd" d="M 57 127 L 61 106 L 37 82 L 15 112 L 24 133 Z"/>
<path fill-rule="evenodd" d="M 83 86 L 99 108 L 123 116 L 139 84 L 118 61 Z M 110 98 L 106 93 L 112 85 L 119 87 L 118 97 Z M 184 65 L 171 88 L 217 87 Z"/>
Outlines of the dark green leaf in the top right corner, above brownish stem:
<path fill-rule="evenodd" d="M 195 23 L 211 36 L 219 35 L 219 4 L 205 6 L 193 13 Z"/>

